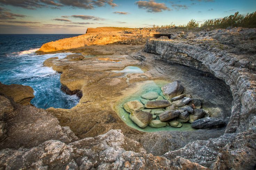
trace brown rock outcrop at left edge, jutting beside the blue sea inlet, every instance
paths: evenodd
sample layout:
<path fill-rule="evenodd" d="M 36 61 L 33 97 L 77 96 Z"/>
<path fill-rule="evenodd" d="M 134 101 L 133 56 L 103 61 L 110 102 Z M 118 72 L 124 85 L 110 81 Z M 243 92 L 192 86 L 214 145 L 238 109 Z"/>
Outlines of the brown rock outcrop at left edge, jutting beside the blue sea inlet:
<path fill-rule="evenodd" d="M 0 93 L 7 95 L 22 105 L 30 105 L 30 101 L 34 98 L 34 90 L 30 86 L 20 84 L 5 85 L 0 83 Z"/>

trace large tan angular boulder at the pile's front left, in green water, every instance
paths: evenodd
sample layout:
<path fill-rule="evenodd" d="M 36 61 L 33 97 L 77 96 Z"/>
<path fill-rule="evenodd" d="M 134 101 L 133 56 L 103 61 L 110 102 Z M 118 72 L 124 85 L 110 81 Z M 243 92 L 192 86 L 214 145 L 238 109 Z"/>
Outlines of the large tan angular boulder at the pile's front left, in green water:
<path fill-rule="evenodd" d="M 145 128 L 152 120 L 153 115 L 151 113 L 141 110 L 135 110 L 131 112 L 129 118 L 139 127 Z"/>

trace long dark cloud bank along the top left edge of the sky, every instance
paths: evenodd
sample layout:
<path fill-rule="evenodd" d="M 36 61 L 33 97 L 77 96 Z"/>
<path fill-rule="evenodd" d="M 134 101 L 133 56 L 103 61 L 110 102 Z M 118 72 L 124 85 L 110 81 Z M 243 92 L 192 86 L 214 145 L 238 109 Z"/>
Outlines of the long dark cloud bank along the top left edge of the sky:
<path fill-rule="evenodd" d="M 42 7 L 57 8 L 63 6 L 71 6 L 74 8 L 94 9 L 110 5 L 116 7 L 117 4 L 113 0 L 0 0 L 2 5 L 11 5 L 26 9 L 36 9 Z M 54 6 L 54 7 L 51 7 Z"/>

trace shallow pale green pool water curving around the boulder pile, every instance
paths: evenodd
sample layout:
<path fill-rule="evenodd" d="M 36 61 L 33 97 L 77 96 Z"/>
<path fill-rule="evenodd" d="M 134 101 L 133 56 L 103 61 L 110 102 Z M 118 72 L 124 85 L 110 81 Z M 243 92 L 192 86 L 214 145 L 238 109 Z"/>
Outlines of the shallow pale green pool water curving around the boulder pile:
<path fill-rule="evenodd" d="M 182 127 L 180 128 L 175 128 L 175 127 L 171 127 L 171 126 L 166 126 L 166 127 L 161 127 L 161 128 L 152 128 L 150 126 L 147 126 L 145 128 L 140 128 L 138 127 L 132 120 L 130 120 L 129 118 L 129 114 L 128 112 L 126 112 L 123 108 L 122 105 L 128 101 L 132 101 L 132 100 L 138 100 L 140 101 L 142 99 L 141 95 L 145 94 L 147 92 L 157 92 L 159 95 L 161 93 L 161 87 L 167 83 L 165 80 L 151 80 L 151 81 L 145 81 L 145 83 L 140 86 L 138 88 L 138 90 L 136 91 L 136 93 L 131 94 L 129 96 L 127 96 L 126 98 L 122 99 L 116 106 L 115 106 L 115 110 L 118 114 L 118 116 L 129 126 L 132 127 L 134 129 L 140 130 L 140 131 L 146 131 L 146 132 L 154 132 L 154 131 L 164 131 L 164 130 L 174 130 L 174 131 L 189 131 L 189 130 L 196 130 L 194 128 L 191 127 L 190 123 L 182 123 Z"/>

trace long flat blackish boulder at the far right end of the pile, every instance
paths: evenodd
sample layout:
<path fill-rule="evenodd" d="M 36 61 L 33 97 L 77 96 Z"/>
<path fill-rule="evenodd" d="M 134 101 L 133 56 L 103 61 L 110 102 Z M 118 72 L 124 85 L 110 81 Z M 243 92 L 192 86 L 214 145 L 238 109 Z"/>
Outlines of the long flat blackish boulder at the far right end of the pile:
<path fill-rule="evenodd" d="M 191 126 L 197 129 L 213 129 L 225 126 L 225 122 L 217 118 L 202 118 L 195 120 Z"/>

